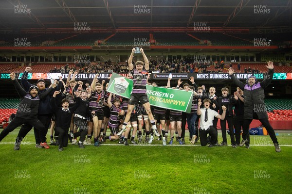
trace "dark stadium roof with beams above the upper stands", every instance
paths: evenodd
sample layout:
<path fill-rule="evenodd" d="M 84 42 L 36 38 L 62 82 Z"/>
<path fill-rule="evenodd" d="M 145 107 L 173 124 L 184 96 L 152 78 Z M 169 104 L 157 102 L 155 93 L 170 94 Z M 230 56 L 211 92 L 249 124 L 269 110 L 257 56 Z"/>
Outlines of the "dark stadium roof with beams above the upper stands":
<path fill-rule="evenodd" d="M 3 0 L 0 28 L 74 29 L 86 22 L 97 30 L 174 30 L 206 22 L 211 29 L 291 32 L 291 14 L 292 0 Z"/>

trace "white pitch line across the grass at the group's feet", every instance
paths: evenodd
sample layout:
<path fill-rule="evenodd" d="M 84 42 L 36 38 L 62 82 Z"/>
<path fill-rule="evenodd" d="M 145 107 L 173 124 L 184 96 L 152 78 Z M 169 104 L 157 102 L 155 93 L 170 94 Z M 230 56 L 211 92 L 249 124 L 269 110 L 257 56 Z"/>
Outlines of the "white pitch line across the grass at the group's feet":
<path fill-rule="evenodd" d="M 14 142 L 0 142 L 0 144 L 14 144 Z M 21 145 L 31 145 L 31 144 L 34 144 L 34 143 L 21 143 Z M 72 144 L 68 144 L 68 145 L 72 145 Z M 77 144 L 75 144 L 76 146 Z M 93 144 L 85 144 L 84 146 L 91 146 Z M 100 146 L 125 146 L 124 144 L 101 144 Z M 163 146 L 163 145 L 159 145 L 159 144 L 136 144 L 136 145 L 131 145 L 129 144 L 129 146 Z M 200 144 L 197 144 L 197 145 L 167 145 L 167 146 L 178 146 L 178 147 L 181 147 L 181 146 L 201 146 Z M 231 146 L 231 145 L 229 145 Z M 274 146 L 273 144 L 270 144 L 270 145 L 250 145 L 250 146 Z M 287 147 L 292 147 L 292 145 L 281 145 L 280 146 L 287 146 Z M 218 146 L 219 147 L 219 146 Z M 242 146 L 244 147 L 244 146 Z"/>

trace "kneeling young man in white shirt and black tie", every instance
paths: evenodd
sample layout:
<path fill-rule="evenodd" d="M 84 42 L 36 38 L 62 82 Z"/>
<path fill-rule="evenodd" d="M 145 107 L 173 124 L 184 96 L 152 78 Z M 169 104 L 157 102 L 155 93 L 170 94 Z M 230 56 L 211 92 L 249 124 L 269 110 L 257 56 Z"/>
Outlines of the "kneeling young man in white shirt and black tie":
<path fill-rule="evenodd" d="M 201 104 L 202 104 L 201 99 L 199 99 L 197 114 L 198 116 L 201 115 L 200 129 L 199 129 L 201 146 L 207 145 L 207 134 L 209 134 L 211 136 L 211 142 L 210 142 L 209 147 L 213 147 L 216 145 L 216 140 L 217 140 L 217 131 L 213 127 L 213 120 L 214 120 L 214 117 L 223 120 L 225 118 L 226 107 L 222 106 L 223 113 L 220 115 L 216 111 L 210 109 L 211 100 L 209 98 L 206 98 L 203 101 L 205 108 L 201 109 L 200 108 Z"/>

